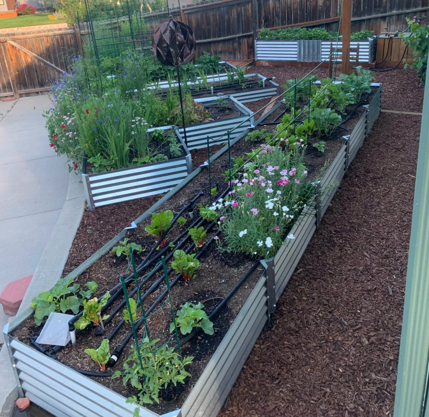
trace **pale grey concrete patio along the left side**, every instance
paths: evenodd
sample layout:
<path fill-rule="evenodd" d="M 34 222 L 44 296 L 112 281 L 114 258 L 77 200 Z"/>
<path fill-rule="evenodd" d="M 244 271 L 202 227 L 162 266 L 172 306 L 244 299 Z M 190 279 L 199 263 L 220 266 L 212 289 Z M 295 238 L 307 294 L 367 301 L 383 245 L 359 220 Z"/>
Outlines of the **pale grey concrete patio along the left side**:
<path fill-rule="evenodd" d="M 0 292 L 10 281 L 34 274 L 21 310 L 59 278 L 83 213 L 79 177 L 49 147 L 42 112 L 50 104 L 48 96 L 0 102 Z M 0 329 L 8 318 L 1 309 Z M 0 415 L 9 417 L 16 387 L 4 348 L 0 375 Z"/>

